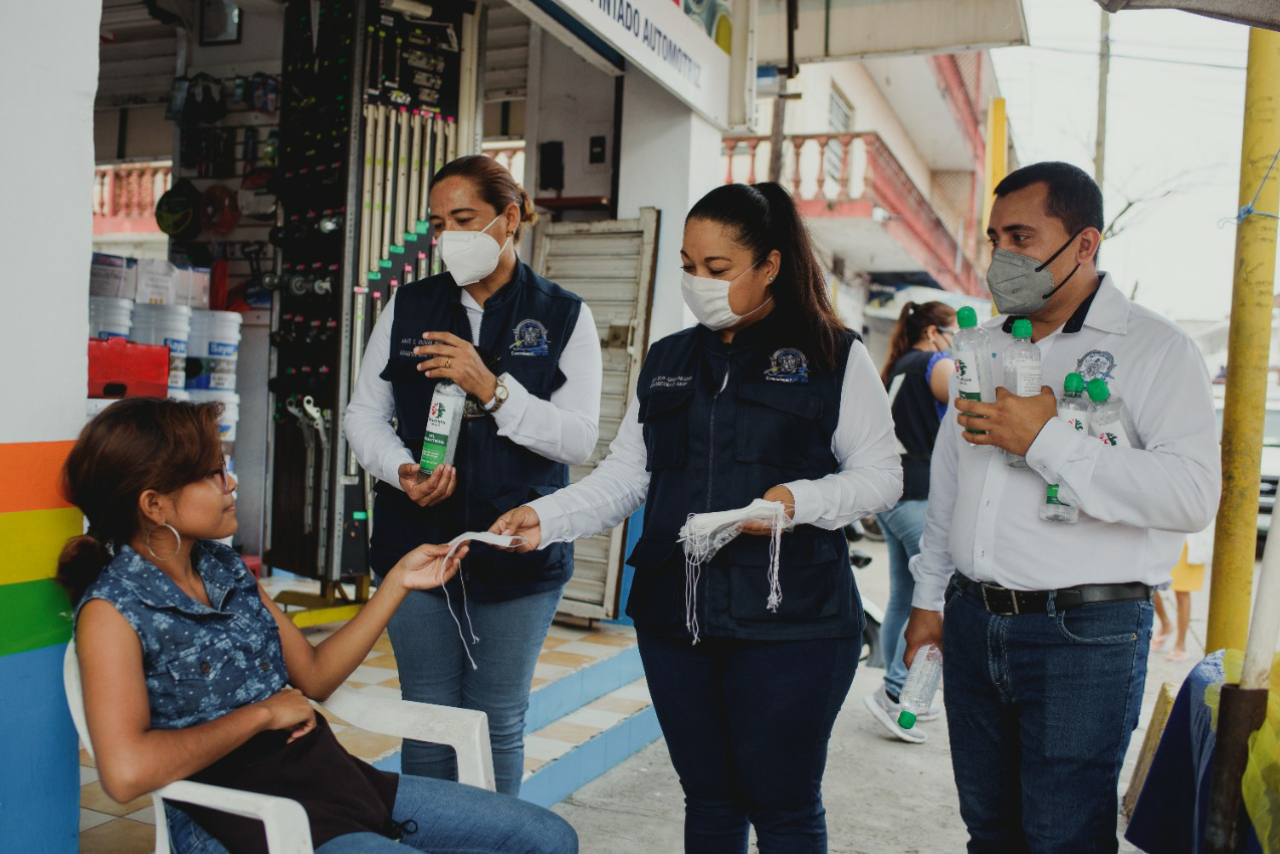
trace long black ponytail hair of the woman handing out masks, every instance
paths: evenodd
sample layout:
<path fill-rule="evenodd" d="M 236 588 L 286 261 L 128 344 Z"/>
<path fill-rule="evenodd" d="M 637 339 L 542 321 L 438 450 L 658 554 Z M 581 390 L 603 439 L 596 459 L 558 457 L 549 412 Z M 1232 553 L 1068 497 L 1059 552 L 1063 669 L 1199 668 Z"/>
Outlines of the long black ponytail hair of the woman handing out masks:
<path fill-rule="evenodd" d="M 827 275 L 791 193 L 773 182 L 724 184 L 698 200 L 685 222 L 692 219 L 733 229 L 736 242 L 751 252 L 756 264 L 778 251 L 782 266 L 769 288 L 774 311 L 815 344 L 818 364 L 832 370 L 840 334 L 849 328 L 831 305 Z"/>

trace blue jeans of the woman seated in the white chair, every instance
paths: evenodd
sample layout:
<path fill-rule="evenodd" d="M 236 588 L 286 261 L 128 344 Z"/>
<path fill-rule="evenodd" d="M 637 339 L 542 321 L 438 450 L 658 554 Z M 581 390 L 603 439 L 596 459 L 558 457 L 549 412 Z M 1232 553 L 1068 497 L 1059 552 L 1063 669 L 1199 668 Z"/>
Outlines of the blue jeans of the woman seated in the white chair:
<path fill-rule="evenodd" d="M 227 854 L 221 842 L 168 808 L 169 840 L 177 854 Z M 347 834 L 316 854 L 376 854 L 416 849 L 442 854 L 576 854 L 577 834 L 556 813 L 527 802 L 444 780 L 401 776 L 392 817 L 406 830 L 397 842 L 379 834 Z M 410 823 L 412 822 L 412 823 Z"/>

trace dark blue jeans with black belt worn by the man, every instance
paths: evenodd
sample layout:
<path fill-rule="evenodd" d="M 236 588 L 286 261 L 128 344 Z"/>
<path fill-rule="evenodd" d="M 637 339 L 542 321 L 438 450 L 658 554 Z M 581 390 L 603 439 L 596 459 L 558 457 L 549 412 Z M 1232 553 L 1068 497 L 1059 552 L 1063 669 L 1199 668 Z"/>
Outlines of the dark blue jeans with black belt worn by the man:
<path fill-rule="evenodd" d="M 1019 616 L 947 590 L 942 679 L 969 851 L 1116 851 L 1149 600 Z"/>

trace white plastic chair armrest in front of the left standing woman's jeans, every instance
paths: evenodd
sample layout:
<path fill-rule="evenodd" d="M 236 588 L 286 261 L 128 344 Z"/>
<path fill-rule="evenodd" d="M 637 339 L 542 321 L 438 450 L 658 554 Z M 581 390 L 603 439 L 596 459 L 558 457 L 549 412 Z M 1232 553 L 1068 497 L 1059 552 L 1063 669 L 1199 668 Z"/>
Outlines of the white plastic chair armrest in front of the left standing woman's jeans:
<path fill-rule="evenodd" d="M 447 744 L 458 754 L 458 782 L 495 790 L 489 717 L 484 712 L 366 697 L 346 686 L 321 705 L 361 730 Z"/>

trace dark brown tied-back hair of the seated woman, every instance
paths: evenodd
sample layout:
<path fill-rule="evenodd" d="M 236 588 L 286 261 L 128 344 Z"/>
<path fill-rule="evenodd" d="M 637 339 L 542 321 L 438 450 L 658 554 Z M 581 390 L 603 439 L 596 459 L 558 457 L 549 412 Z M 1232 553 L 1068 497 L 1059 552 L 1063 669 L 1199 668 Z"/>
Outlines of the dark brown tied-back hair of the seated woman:
<path fill-rule="evenodd" d="M 111 557 L 137 534 L 138 498 L 177 492 L 223 465 L 221 403 L 131 397 L 90 421 L 63 465 L 63 494 L 88 520 L 67 540 L 58 583 L 79 602 Z"/>

